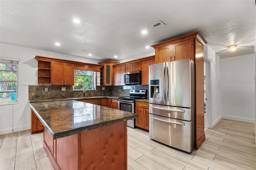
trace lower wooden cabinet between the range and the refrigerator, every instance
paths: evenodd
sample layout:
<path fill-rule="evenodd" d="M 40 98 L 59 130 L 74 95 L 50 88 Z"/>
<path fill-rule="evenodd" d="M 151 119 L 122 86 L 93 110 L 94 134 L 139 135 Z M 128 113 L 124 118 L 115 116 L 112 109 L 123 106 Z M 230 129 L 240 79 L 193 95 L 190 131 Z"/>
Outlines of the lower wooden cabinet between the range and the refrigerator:
<path fill-rule="evenodd" d="M 135 126 L 149 130 L 149 104 L 136 101 L 135 113 L 139 115 L 139 117 L 135 119 Z"/>

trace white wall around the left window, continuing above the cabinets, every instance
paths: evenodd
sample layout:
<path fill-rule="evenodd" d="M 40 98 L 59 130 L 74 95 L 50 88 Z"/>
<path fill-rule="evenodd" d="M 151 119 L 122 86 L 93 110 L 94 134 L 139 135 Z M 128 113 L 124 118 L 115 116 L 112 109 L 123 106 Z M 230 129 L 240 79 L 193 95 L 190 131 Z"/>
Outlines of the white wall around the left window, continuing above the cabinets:
<path fill-rule="evenodd" d="M 98 60 L 43 51 L 38 49 L 0 44 L 0 57 L 20 59 L 18 83 L 37 83 L 36 55 L 98 64 Z M 30 129 L 30 106 L 28 86 L 18 87 L 18 104 L 0 105 L 0 134 Z"/>

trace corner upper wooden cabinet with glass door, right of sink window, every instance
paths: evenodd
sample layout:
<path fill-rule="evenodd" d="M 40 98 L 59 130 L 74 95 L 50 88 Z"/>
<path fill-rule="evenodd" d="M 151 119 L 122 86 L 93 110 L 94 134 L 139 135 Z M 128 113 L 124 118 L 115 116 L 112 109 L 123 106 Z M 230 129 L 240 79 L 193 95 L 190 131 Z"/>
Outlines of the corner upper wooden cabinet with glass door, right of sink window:
<path fill-rule="evenodd" d="M 103 65 L 103 84 L 105 86 L 113 85 L 113 65 L 119 64 L 115 61 L 102 61 L 99 63 Z"/>

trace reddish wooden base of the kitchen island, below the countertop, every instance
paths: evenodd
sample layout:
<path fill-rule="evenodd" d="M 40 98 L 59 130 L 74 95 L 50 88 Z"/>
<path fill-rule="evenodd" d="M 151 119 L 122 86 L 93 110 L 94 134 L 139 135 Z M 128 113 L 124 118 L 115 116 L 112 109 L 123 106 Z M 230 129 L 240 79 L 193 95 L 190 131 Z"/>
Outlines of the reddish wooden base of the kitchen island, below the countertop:
<path fill-rule="evenodd" d="M 54 170 L 127 170 L 126 121 L 53 140 L 44 128 L 44 150 Z"/>

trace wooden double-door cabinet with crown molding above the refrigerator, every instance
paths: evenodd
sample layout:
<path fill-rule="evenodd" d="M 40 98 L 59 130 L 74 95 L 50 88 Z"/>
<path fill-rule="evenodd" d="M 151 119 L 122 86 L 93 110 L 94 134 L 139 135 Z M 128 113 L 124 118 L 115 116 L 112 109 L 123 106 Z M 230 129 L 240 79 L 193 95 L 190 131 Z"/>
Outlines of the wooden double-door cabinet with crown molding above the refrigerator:
<path fill-rule="evenodd" d="M 195 60 L 195 40 L 200 39 L 206 42 L 202 36 L 196 32 L 166 42 L 152 45 L 155 49 L 156 63 L 177 61 L 182 59 Z"/>

